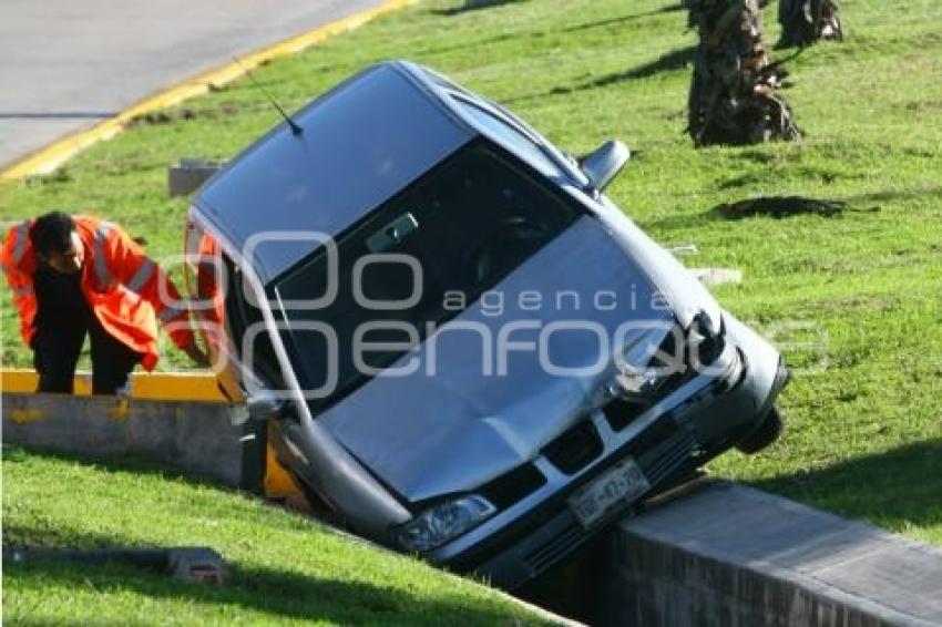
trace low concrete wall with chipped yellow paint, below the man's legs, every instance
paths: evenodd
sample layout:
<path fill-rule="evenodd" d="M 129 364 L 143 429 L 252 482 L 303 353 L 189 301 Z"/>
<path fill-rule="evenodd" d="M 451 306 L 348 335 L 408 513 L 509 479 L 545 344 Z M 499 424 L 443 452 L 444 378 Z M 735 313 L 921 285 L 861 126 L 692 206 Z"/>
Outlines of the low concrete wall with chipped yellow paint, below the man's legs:
<path fill-rule="evenodd" d="M 3 442 L 84 456 L 146 455 L 224 485 L 247 487 L 243 442 L 223 403 L 68 394 L 2 395 Z"/>

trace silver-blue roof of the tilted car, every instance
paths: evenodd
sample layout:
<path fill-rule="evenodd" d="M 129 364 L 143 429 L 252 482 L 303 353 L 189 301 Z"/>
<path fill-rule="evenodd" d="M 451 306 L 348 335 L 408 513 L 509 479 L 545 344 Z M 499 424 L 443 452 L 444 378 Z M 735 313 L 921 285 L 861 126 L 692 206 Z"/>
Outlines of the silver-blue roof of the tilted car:
<path fill-rule="evenodd" d="M 280 124 L 229 163 L 192 213 L 269 281 L 317 247 L 315 233 L 336 236 L 479 134 L 443 81 L 403 61 L 360 72 L 291 116 L 300 135 Z"/>

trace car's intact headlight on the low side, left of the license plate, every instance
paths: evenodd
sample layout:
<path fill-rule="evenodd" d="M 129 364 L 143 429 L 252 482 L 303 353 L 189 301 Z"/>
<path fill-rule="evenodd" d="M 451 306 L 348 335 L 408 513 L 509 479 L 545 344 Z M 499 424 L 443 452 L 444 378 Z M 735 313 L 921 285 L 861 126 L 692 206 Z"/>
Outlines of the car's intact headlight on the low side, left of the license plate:
<path fill-rule="evenodd" d="M 431 551 L 480 525 L 495 512 L 496 507 L 481 496 L 462 496 L 426 510 L 402 525 L 397 535 L 409 551 Z"/>

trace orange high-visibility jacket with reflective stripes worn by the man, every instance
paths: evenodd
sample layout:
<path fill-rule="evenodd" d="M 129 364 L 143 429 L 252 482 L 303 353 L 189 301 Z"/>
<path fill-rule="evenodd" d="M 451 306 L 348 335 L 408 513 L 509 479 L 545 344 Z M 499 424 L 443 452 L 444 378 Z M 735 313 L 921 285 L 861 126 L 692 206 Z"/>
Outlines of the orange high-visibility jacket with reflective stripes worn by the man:
<path fill-rule="evenodd" d="M 147 370 L 153 370 L 160 357 L 158 319 L 177 347 L 193 342 L 190 316 L 180 292 L 143 248 L 115 224 L 88 216 L 73 219 L 85 248 L 82 294 L 102 327 L 143 353 L 141 364 Z M 33 275 L 39 265 L 29 237 L 32 225 L 31 219 L 14 225 L 0 251 L 13 302 L 20 310 L 20 332 L 28 346 L 35 335 Z"/>

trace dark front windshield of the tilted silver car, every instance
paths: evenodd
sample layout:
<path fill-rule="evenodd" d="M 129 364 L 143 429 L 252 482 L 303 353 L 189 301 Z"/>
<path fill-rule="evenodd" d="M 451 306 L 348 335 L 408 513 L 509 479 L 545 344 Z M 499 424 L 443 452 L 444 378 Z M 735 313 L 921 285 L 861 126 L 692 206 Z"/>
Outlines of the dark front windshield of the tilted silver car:
<path fill-rule="evenodd" d="M 575 222 L 577 207 L 477 140 L 341 234 L 336 264 L 321 247 L 288 270 L 272 296 L 313 407 L 337 402 L 473 304 Z M 311 299 L 327 304 L 299 302 Z M 357 341 L 372 348 L 354 350 Z"/>

